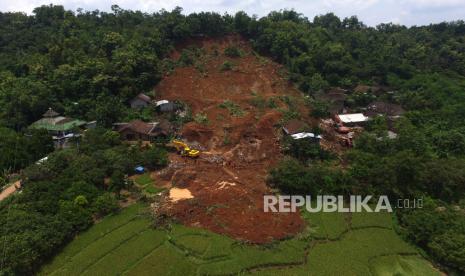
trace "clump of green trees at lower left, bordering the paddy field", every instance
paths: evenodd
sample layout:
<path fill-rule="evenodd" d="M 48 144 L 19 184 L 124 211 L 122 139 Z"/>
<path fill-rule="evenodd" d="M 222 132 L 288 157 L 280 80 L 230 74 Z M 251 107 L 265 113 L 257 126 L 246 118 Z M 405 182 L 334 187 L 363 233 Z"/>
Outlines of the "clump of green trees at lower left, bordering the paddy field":
<path fill-rule="evenodd" d="M 8 244 L 5 271 L 34 272 L 75 233 L 91 226 L 94 216 L 116 211 L 116 199 L 104 191 L 104 179 L 112 176 L 110 184 L 117 191 L 124 185 L 123 171 L 143 163 L 144 155 L 150 164 L 166 164 L 166 153 L 147 152 L 121 145 L 114 132 L 97 128 L 86 132 L 79 149 L 55 151 L 42 164 L 24 169 L 22 193 L 8 202 L 8 208 L 4 201 L 0 205 L 0 235 Z"/>

